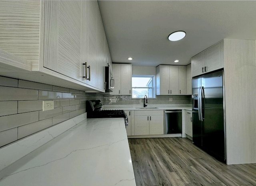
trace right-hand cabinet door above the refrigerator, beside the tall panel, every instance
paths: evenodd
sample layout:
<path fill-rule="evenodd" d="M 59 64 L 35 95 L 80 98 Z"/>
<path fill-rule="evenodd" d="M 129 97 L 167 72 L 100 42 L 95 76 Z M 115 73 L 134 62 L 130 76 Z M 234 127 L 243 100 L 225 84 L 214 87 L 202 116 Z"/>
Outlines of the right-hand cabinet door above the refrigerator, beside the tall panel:
<path fill-rule="evenodd" d="M 206 49 L 204 66 L 206 67 L 206 72 L 214 71 L 224 67 L 223 41 Z"/>

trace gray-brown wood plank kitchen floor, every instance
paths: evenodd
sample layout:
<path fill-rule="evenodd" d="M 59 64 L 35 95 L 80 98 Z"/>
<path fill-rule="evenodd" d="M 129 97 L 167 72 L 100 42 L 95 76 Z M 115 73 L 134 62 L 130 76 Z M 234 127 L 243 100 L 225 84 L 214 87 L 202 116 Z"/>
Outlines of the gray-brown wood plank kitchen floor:
<path fill-rule="evenodd" d="M 128 141 L 137 186 L 256 186 L 256 164 L 226 165 L 187 138 Z"/>

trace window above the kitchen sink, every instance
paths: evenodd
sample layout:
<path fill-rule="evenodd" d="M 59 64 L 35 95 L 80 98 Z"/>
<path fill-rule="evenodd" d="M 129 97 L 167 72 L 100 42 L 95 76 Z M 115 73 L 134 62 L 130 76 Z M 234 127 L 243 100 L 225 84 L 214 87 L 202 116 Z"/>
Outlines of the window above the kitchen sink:
<path fill-rule="evenodd" d="M 156 97 L 154 93 L 154 77 L 136 76 L 132 77 L 132 98 Z"/>

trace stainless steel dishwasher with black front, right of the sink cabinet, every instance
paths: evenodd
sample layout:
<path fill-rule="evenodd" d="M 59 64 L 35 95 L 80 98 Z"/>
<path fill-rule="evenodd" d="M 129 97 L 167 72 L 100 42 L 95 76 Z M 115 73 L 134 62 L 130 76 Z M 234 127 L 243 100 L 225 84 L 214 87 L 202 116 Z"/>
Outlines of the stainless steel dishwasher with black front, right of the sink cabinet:
<path fill-rule="evenodd" d="M 164 134 L 182 133 L 182 110 L 164 111 Z"/>

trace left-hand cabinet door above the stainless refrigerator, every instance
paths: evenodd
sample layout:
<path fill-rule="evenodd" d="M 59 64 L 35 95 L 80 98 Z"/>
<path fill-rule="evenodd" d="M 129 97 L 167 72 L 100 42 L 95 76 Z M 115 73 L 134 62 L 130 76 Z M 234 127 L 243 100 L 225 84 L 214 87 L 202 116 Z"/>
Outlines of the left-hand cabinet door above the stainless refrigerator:
<path fill-rule="evenodd" d="M 191 58 L 192 77 L 204 72 L 204 51 Z"/>

